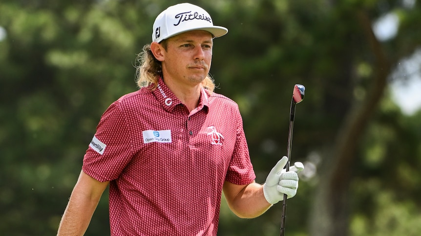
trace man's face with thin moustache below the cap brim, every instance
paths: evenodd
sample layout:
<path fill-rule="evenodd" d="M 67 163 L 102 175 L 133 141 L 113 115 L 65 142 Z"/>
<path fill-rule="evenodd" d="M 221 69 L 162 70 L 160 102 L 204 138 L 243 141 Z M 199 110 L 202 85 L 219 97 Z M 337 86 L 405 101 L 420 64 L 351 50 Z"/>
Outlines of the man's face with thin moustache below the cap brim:
<path fill-rule="evenodd" d="M 163 50 L 164 79 L 189 85 L 200 84 L 208 75 L 212 60 L 212 35 L 203 30 L 189 31 L 167 39 Z"/>

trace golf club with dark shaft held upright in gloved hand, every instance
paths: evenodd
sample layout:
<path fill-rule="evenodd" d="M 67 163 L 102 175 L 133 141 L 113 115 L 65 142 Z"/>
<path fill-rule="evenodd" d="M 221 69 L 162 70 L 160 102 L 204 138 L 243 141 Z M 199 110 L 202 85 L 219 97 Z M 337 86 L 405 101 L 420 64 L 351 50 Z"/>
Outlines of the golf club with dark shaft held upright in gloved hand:
<path fill-rule="evenodd" d="M 295 116 L 295 104 L 301 102 L 304 99 L 304 86 L 296 84 L 294 86 L 293 99 L 291 100 L 291 109 L 290 109 L 290 129 L 288 133 L 288 147 L 287 147 L 287 157 L 288 163 L 286 165 L 286 171 L 290 170 L 291 163 L 291 147 L 293 143 L 293 128 L 294 128 L 294 116 Z M 281 221 L 281 234 L 284 236 L 285 232 L 285 214 L 287 210 L 287 195 L 284 194 L 284 200 L 282 203 L 282 221 Z"/>

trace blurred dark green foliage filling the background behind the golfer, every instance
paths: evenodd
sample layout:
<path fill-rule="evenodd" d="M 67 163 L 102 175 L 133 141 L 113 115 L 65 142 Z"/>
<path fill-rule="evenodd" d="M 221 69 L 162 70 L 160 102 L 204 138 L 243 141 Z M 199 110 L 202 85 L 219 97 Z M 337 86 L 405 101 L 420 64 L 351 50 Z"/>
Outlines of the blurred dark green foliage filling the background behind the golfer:
<path fill-rule="evenodd" d="M 101 114 L 135 91 L 136 54 L 151 40 L 164 0 L 0 2 L 0 232 L 54 235 Z M 420 47 L 416 0 L 194 0 L 229 33 L 214 40 L 211 74 L 240 106 L 257 182 L 286 153 L 294 84 L 306 86 L 297 106 L 293 162 L 301 176 L 288 201 L 287 234 L 320 235 L 310 212 L 323 163 L 333 162 L 345 117 L 360 106 L 378 68 L 357 12 L 400 19 L 382 41 L 395 68 Z M 409 6 L 408 6 L 409 4 Z M 401 76 L 404 77 L 404 76 Z M 402 78 L 389 78 L 402 79 Z M 421 231 L 421 112 L 401 113 L 386 88 L 354 150 L 349 218 L 342 235 L 415 236 Z M 108 195 L 86 232 L 109 235 Z M 235 217 L 222 202 L 218 235 L 279 233 L 282 206 L 255 219 Z M 316 214 L 317 215 L 317 214 Z M 335 223 L 335 222 L 334 222 Z"/>

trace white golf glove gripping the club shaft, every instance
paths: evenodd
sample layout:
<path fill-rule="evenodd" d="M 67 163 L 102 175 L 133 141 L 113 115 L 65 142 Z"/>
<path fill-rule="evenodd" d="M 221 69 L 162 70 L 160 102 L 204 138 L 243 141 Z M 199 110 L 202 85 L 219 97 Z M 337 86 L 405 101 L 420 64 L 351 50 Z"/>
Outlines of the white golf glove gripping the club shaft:
<path fill-rule="evenodd" d="M 300 171 L 304 170 L 303 163 L 296 162 L 293 166 L 290 166 L 290 171 L 284 169 L 288 163 L 287 157 L 282 157 L 278 163 L 272 168 L 266 182 L 263 184 L 263 193 L 266 200 L 275 204 L 276 202 L 284 199 L 284 194 L 287 195 L 287 199 L 295 196 L 298 188 L 298 175 Z"/>

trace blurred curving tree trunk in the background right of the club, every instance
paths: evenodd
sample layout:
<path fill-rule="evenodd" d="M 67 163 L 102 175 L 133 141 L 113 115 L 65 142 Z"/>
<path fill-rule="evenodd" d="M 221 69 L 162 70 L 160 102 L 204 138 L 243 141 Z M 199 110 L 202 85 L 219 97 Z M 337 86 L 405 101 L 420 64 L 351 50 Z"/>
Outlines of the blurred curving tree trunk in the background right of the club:
<path fill-rule="evenodd" d="M 353 108 L 339 129 L 337 143 L 332 151 L 327 151 L 320 172 L 320 186 L 316 190 L 316 199 L 311 216 L 312 236 L 347 236 L 350 223 L 349 187 L 353 178 L 352 167 L 358 161 L 356 156 L 359 140 L 362 139 L 370 117 L 377 109 L 387 84 L 391 66 L 375 37 L 367 13 L 358 10 L 356 17 L 364 31 L 367 42 L 375 58 L 374 77 L 366 97 L 361 104 L 354 102 Z"/>

